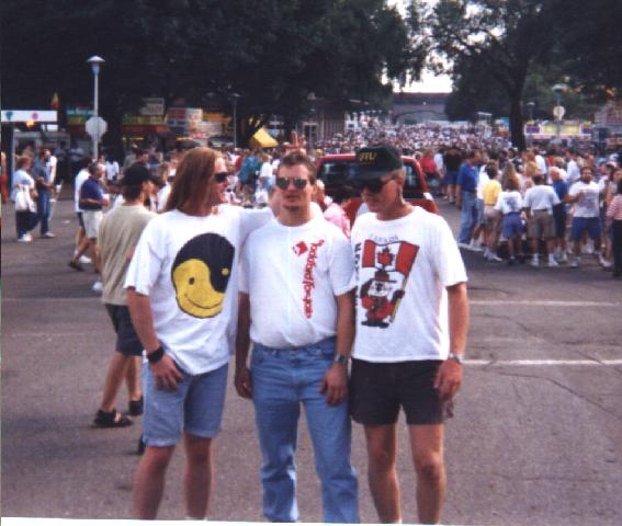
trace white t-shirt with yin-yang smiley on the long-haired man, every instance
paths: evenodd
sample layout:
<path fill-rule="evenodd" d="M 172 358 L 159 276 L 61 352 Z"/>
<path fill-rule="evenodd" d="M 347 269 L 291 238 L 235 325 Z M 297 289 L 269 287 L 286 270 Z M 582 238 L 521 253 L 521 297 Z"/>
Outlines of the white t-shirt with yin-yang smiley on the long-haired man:
<path fill-rule="evenodd" d="M 239 249 L 250 231 L 272 217 L 270 208 L 229 205 L 206 217 L 171 210 L 143 231 L 124 286 L 149 296 L 158 339 L 189 374 L 217 369 L 229 359 Z"/>

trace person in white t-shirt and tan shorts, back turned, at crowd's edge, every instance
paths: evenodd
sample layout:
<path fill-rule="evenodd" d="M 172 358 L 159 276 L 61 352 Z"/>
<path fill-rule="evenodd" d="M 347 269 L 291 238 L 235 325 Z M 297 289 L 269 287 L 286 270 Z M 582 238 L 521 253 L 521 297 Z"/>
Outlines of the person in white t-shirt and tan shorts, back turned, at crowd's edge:
<path fill-rule="evenodd" d="M 524 194 L 523 207 L 527 211 L 528 238 L 531 242 L 531 266 L 540 266 L 540 241 L 544 240 L 549 254 L 549 266 L 558 266 L 553 254 L 555 250 L 555 221 L 553 207 L 558 205 L 559 197 L 552 186 L 544 184 L 544 175 L 540 172 L 532 178 L 533 186 Z"/>

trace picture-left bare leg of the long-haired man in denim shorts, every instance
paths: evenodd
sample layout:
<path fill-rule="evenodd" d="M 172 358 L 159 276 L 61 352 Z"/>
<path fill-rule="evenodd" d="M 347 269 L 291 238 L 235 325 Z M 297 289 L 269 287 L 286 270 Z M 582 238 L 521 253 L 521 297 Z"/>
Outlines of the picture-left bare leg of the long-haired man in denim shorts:
<path fill-rule="evenodd" d="M 154 519 L 165 491 L 165 476 L 171 459 L 173 446 L 147 446 L 134 479 L 134 516 Z"/>

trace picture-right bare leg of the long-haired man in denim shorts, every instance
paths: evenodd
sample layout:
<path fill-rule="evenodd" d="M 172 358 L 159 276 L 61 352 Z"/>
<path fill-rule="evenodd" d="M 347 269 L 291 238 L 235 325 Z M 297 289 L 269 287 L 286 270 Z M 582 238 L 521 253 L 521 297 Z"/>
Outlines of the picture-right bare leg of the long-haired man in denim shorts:
<path fill-rule="evenodd" d="M 185 515 L 202 521 L 207 515 L 212 492 L 212 438 L 184 435 L 185 442 Z"/>

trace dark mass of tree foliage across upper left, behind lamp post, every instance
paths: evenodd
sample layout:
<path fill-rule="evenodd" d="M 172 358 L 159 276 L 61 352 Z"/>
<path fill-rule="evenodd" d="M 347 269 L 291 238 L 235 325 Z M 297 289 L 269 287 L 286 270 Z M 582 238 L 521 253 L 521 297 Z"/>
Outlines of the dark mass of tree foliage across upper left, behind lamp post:
<path fill-rule="evenodd" d="M 310 92 L 343 104 L 382 99 L 425 56 L 417 12 L 404 20 L 386 0 L 3 0 L 1 24 L 2 94 L 13 107 L 42 107 L 54 92 L 90 105 L 84 61 L 105 58 L 108 140 L 143 96 L 199 105 L 208 92 L 238 93 L 250 136 L 271 114 L 296 121 Z"/>

